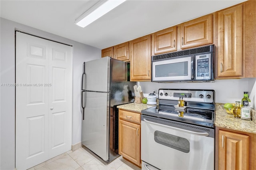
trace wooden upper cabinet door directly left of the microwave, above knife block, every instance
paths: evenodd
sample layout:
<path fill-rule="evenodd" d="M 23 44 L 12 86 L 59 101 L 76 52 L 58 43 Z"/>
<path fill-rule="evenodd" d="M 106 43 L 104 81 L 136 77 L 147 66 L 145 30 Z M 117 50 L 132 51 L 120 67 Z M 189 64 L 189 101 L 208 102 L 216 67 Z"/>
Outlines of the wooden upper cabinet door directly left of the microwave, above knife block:
<path fill-rule="evenodd" d="M 151 35 L 137 38 L 129 43 L 131 81 L 151 80 Z"/>

